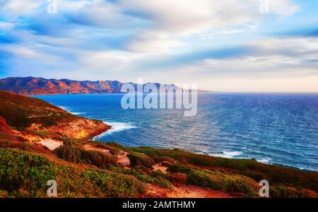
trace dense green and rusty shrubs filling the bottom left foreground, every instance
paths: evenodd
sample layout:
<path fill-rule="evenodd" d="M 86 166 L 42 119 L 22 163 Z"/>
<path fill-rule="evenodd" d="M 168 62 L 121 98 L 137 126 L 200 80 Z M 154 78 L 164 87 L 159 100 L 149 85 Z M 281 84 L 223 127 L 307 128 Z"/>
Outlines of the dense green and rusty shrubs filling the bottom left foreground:
<path fill-rule="evenodd" d="M 44 156 L 0 149 L 0 196 L 46 197 L 57 180 L 59 197 L 136 197 L 145 190 L 136 177 L 52 163 Z"/>

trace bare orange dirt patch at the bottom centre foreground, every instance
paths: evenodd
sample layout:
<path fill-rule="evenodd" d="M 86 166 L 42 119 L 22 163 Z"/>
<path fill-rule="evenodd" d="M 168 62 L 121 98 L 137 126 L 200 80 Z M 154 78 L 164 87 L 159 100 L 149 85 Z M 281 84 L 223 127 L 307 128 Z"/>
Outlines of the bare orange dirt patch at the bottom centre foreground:
<path fill-rule="evenodd" d="M 231 198 L 231 196 L 225 192 L 192 185 L 173 186 L 172 189 L 164 189 L 157 185 L 149 184 L 147 186 L 147 192 L 154 197 L 167 198 Z"/>

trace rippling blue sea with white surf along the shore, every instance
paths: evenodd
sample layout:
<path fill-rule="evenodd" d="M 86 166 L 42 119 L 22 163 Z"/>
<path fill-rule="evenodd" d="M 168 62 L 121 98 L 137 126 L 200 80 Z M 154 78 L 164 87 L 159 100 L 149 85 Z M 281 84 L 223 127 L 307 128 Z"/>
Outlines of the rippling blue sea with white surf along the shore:
<path fill-rule="evenodd" d="M 35 96 L 112 130 L 95 137 L 125 146 L 179 148 L 318 171 L 318 94 L 199 94 L 198 113 L 128 109 L 122 94 Z"/>

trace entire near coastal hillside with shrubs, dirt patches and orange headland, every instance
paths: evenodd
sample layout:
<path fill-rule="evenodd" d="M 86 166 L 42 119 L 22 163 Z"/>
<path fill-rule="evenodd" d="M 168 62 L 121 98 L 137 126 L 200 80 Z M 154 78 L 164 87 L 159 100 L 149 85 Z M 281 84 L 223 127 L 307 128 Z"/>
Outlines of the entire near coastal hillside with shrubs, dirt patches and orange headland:
<path fill-rule="evenodd" d="M 180 149 L 92 142 L 109 129 L 40 99 L 0 92 L 0 197 L 317 197 L 318 173 Z"/>

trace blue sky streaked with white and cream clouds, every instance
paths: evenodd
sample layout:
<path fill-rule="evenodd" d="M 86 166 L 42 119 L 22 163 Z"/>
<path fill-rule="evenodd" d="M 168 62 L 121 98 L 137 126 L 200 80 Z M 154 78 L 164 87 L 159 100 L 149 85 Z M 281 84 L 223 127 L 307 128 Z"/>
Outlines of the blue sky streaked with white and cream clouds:
<path fill-rule="evenodd" d="M 318 92 L 317 11 L 315 0 L 0 0 L 0 78 Z"/>

